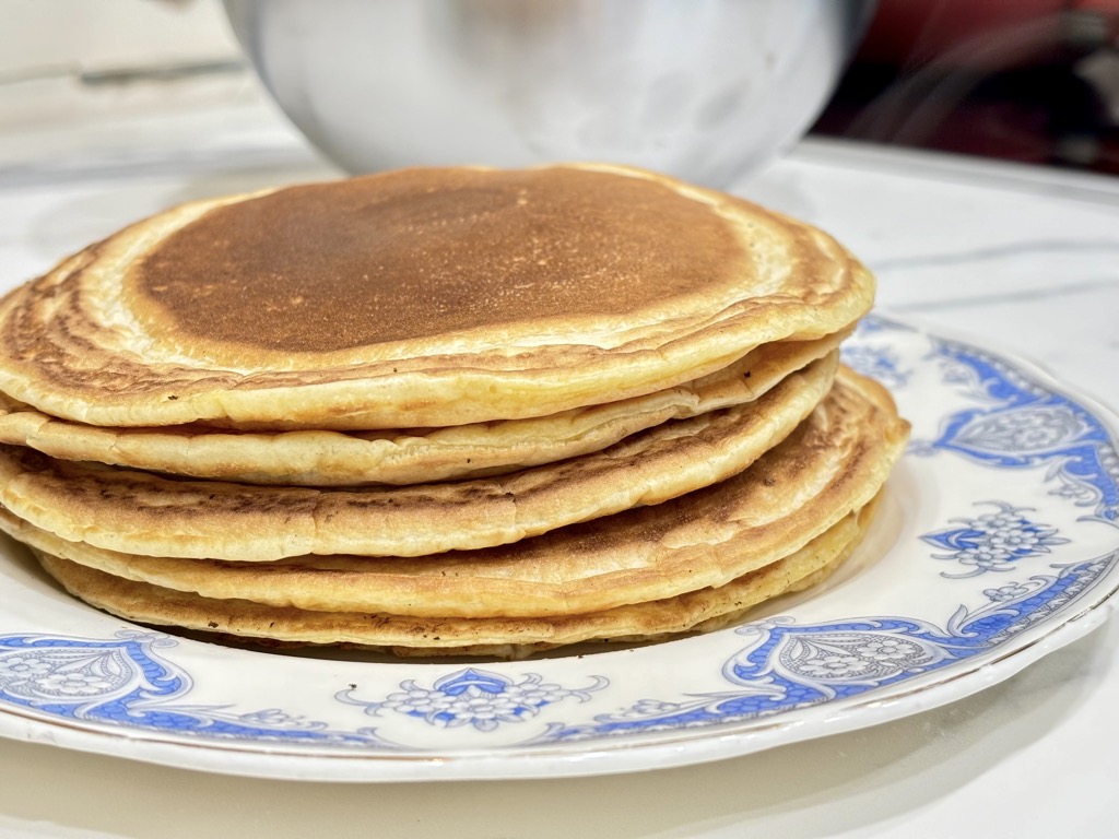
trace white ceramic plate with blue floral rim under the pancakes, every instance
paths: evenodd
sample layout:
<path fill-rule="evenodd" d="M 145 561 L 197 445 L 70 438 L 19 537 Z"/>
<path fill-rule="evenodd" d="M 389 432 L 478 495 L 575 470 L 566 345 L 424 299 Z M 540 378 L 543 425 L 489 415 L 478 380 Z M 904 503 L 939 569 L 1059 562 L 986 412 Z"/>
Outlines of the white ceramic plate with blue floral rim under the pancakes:
<path fill-rule="evenodd" d="M 523 662 L 234 650 L 76 603 L 0 545 L 0 734 L 338 781 L 630 772 L 981 690 L 1099 625 L 1119 586 L 1116 420 L 1024 362 L 868 318 L 846 361 L 913 441 L 867 541 L 736 629 Z"/>

